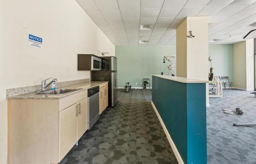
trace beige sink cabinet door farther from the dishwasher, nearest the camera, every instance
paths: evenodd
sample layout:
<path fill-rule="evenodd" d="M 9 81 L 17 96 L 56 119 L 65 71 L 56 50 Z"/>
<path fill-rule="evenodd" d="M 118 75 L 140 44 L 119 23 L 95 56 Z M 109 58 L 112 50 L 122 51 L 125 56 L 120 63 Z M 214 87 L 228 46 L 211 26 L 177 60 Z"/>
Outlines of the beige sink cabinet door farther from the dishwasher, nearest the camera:
<path fill-rule="evenodd" d="M 60 159 L 69 152 L 77 139 L 77 108 L 76 104 L 60 111 Z"/>

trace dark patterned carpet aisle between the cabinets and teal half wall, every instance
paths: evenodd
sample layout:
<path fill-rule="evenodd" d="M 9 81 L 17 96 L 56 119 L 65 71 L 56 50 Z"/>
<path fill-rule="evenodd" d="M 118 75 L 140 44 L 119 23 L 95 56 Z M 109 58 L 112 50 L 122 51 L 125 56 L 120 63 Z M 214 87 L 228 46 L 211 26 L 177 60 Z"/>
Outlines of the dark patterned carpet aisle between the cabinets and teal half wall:
<path fill-rule="evenodd" d="M 123 91 L 60 164 L 178 163 L 151 106 L 151 90 Z"/>

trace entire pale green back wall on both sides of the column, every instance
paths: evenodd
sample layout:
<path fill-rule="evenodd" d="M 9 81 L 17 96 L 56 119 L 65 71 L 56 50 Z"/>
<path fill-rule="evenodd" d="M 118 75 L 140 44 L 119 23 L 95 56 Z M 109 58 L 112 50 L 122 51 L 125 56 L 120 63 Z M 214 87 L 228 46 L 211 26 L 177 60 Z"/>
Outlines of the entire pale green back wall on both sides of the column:
<path fill-rule="evenodd" d="M 170 62 L 163 63 L 163 58 L 165 55 L 176 56 L 176 46 L 116 46 L 115 51 L 118 87 L 124 87 L 127 82 L 132 87 L 142 87 L 143 78 L 150 78 L 152 83 L 152 75 L 161 72 L 167 75 Z M 233 81 L 233 45 L 209 45 L 209 55 L 213 59 L 214 76 L 229 76 Z"/>

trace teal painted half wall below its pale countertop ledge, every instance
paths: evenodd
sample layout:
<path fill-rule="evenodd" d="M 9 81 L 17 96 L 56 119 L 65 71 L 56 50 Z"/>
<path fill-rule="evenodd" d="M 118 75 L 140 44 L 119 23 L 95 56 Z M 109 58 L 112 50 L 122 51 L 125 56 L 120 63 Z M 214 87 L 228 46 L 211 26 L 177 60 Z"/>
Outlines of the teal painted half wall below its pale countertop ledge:
<path fill-rule="evenodd" d="M 152 103 L 183 162 L 206 164 L 206 84 L 152 80 Z"/>

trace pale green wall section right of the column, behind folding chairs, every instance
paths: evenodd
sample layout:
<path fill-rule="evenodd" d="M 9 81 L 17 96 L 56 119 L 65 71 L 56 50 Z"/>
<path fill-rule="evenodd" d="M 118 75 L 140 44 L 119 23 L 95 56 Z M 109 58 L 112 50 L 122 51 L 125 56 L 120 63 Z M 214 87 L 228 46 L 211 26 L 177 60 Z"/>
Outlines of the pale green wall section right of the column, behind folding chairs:
<path fill-rule="evenodd" d="M 233 67 L 233 45 L 209 45 L 209 56 L 212 58 L 214 76 L 228 76 L 230 81 L 234 81 Z M 209 62 L 210 72 L 210 62 Z"/>

